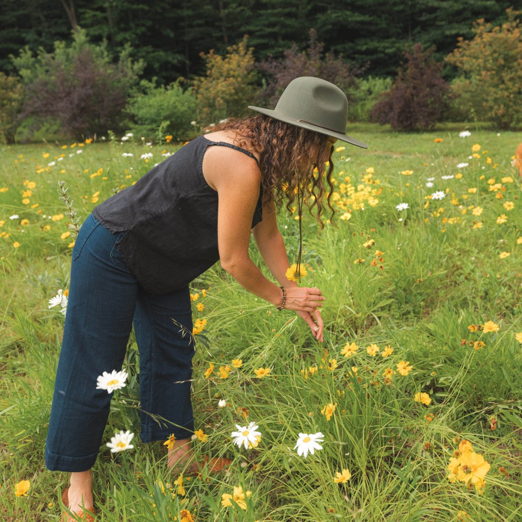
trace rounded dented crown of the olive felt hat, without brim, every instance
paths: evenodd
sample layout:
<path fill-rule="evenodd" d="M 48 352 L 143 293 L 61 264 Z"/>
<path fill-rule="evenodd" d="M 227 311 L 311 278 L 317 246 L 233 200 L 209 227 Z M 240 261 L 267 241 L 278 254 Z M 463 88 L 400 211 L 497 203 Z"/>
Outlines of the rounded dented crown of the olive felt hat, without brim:
<path fill-rule="evenodd" d="M 292 80 L 284 89 L 276 111 L 304 123 L 345 133 L 348 100 L 339 87 L 311 76 Z"/>

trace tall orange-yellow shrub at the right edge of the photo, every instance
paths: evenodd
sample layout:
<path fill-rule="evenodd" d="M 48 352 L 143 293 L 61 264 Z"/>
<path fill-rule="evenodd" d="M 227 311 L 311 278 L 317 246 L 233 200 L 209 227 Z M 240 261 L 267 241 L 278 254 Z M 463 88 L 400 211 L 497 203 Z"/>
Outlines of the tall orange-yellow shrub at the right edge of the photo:
<path fill-rule="evenodd" d="M 462 73 L 452 82 L 454 110 L 474 113 L 501 129 L 522 123 L 522 25 L 518 14 L 508 9 L 508 20 L 501 27 L 477 20 L 474 38 L 459 38 L 457 49 L 446 57 Z"/>

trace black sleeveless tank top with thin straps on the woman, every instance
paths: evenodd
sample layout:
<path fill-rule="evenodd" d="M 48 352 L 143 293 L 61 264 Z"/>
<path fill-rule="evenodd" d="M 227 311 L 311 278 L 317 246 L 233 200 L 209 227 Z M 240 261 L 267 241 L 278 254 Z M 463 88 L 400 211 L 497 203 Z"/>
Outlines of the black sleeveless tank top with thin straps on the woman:
<path fill-rule="evenodd" d="M 218 193 L 203 175 L 210 146 L 252 152 L 199 136 L 93 210 L 113 234 L 126 232 L 116 246 L 138 282 L 152 294 L 185 287 L 219 259 Z M 263 190 L 252 219 L 262 220 Z"/>

